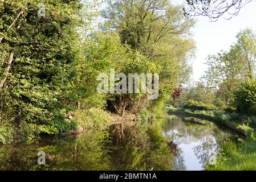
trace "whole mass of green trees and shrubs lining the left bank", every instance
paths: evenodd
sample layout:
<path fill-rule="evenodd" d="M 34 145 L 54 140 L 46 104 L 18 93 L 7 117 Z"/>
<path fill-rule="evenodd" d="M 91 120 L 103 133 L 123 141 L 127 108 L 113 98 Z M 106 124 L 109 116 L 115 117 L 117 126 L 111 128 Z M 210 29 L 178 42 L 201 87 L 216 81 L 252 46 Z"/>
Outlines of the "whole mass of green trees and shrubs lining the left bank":
<path fill-rule="evenodd" d="M 111 118 L 104 109 L 110 107 L 120 115 L 142 110 L 138 126 L 145 125 L 145 110 L 164 113 L 173 88 L 191 73 L 194 20 L 183 16 L 182 6 L 109 1 L 105 22 L 96 28 L 100 1 L 47 0 L 45 16 L 38 16 L 38 3 L 0 0 L 2 143 L 107 126 Z M 97 93 L 97 76 L 111 68 L 160 73 L 159 99 Z"/>

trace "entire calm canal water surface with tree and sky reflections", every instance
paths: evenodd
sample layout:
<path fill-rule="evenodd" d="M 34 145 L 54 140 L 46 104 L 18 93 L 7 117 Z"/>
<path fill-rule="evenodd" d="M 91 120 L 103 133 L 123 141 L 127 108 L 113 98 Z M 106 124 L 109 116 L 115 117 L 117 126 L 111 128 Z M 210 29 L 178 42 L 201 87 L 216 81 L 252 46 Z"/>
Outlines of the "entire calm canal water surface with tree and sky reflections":
<path fill-rule="evenodd" d="M 202 119 L 167 115 L 149 125 L 112 125 L 79 137 L 0 146 L 0 170 L 204 170 L 234 134 Z M 46 164 L 38 164 L 38 152 Z"/>

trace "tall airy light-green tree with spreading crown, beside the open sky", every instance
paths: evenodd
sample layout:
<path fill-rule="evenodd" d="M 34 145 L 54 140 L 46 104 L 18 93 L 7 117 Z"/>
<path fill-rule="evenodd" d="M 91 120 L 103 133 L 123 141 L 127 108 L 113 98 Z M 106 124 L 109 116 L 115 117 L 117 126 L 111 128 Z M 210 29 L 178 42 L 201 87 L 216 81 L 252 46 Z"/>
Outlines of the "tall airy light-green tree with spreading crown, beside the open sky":
<path fill-rule="evenodd" d="M 185 82 L 190 73 L 188 60 L 193 55 L 194 43 L 189 36 L 194 20 L 184 17 L 182 6 L 173 6 L 166 0 L 109 1 L 103 16 L 107 19 L 105 31 L 117 31 L 122 44 L 143 55 L 145 63 L 157 65 L 160 96 L 149 103 L 149 108 L 162 110 L 176 85 Z M 136 102 L 145 105 L 144 98 Z"/>

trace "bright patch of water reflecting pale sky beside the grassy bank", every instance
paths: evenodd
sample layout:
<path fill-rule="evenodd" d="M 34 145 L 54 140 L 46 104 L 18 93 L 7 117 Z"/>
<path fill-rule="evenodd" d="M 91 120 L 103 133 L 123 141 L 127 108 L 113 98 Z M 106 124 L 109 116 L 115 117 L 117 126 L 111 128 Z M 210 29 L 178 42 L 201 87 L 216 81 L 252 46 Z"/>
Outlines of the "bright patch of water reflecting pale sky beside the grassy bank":
<path fill-rule="evenodd" d="M 162 122 L 162 135 L 178 144 L 174 169 L 204 170 L 206 164 L 214 164 L 218 143 L 231 133 L 213 122 L 169 115 Z"/>

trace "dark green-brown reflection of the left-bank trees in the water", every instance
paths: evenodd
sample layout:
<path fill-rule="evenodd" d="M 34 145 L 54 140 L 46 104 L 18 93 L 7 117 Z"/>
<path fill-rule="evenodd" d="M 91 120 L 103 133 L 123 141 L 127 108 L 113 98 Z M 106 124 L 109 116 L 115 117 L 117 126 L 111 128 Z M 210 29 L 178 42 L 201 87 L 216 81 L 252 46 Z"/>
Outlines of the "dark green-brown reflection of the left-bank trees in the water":
<path fill-rule="evenodd" d="M 172 170 L 161 128 L 147 131 L 112 125 L 109 131 L 88 130 L 78 138 L 42 137 L 38 143 L 0 148 L 0 170 Z M 46 165 L 37 164 L 37 152 L 46 152 Z"/>

